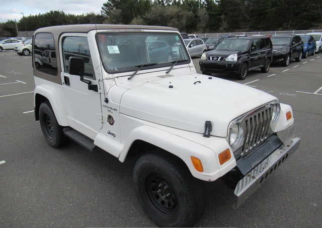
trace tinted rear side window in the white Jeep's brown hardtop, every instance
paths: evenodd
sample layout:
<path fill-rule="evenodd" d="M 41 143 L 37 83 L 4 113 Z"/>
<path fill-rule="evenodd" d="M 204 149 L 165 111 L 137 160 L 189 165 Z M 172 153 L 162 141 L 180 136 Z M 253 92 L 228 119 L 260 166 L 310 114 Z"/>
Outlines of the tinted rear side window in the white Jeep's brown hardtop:
<path fill-rule="evenodd" d="M 37 33 L 34 49 L 34 63 L 38 63 L 37 71 L 57 76 L 56 56 L 49 55 L 50 52 L 55 52 L 53 35 L 51 33 Z"/>

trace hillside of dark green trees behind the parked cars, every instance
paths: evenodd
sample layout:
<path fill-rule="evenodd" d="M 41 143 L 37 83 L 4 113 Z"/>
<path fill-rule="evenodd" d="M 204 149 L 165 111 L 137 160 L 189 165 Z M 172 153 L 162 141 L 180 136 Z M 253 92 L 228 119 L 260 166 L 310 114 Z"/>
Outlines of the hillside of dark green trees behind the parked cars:
<path fill-rule="evenodd" d="M 322 23 L 321 0 L 108 0 L 101 14 L 62 11 L 23 17 L 19 31 L 70 24 L 133 24 L 182 32 L 306 30 Z M 0 23 L 0 37 L 15 36 L 14 21 Z"/>

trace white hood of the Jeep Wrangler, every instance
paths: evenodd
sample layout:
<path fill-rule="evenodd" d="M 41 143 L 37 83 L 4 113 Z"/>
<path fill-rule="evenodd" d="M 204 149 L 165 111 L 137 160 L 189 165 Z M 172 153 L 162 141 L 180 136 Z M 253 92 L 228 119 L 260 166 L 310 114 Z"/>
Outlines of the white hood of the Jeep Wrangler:
<path fill-rule="evenodd" d="M 275 99 L 248 86 L 192 73 L 157 78 L 127 90 L 120 113 L 197 133 L 204 133 L 205 121 L 210 120 L 211 135 L 226 137 L 233 119 Z"/>

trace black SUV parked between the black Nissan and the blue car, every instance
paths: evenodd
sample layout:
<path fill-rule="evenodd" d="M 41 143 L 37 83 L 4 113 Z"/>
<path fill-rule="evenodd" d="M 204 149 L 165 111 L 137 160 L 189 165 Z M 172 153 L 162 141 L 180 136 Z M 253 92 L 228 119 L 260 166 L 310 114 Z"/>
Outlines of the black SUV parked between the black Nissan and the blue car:
<path fill-rule="evenodd" d="M 292 59 L 302 60 L 303 42 L 297 35 L 276 35 L 271 37 L 273 43 L 273 63 L 288 66 Z"/>

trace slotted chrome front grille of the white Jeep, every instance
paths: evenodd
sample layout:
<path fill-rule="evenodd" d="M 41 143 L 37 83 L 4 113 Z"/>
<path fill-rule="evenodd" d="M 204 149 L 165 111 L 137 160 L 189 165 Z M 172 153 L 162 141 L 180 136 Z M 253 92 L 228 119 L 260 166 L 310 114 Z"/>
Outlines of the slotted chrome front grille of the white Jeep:
<path fill-rule="evenodd" d="M 241 156 L 249 153 L 262 143 L 267 138 L 268 129 L 272 120 L 272 107 L 267 105 L 247 116 L 244 119 L 245 140 L 242 147 Z"/>

